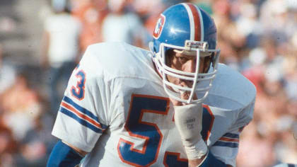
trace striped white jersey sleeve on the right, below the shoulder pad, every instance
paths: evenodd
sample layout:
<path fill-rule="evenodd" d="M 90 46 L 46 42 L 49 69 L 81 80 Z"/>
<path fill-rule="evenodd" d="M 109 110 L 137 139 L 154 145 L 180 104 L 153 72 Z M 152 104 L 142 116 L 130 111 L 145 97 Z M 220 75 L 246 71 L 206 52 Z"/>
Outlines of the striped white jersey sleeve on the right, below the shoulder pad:
<path fill-rule="evenodd" d="M 219 160 L 233 167 L 236 166 L 236 156 L 238 154 L 239 137 L 243 127 L 252 120 L 255 99 L 241 110 L 238 119 L 210 148 L 211 153 Z"/>

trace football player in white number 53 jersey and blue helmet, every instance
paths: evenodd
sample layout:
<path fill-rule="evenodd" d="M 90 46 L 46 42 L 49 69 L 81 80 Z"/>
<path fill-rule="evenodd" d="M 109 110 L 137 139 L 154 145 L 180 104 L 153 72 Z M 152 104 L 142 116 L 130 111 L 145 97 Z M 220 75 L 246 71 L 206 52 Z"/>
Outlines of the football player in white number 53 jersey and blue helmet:
<path fill-rule="evenodd" d="M 64 93 L 52 130 L 61 141 L 47 166 L 235 167 L 256 91 L 219 64 L 213 19 L 194 4 L 170 6 L 150 48 L 88 47 Z"/>

